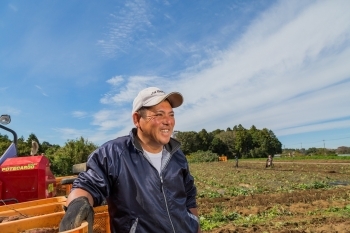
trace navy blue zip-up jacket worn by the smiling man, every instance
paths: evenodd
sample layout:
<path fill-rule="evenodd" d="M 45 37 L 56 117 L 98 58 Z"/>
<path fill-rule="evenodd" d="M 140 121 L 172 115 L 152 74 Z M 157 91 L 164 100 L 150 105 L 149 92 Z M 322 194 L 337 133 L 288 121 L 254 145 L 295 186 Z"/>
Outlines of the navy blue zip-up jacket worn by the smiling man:
<path fill-rule="evenodd" d="M 108 203 L 111 232 L 178 232 L 198 230 L 197 189 L 180 143 L 171 138 L 163 150 L 162 168 L 144 155 L 136 129 L 96 149 L 74 188 L 88 191 L 94 205 Z"/>

